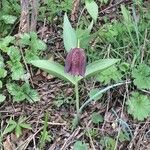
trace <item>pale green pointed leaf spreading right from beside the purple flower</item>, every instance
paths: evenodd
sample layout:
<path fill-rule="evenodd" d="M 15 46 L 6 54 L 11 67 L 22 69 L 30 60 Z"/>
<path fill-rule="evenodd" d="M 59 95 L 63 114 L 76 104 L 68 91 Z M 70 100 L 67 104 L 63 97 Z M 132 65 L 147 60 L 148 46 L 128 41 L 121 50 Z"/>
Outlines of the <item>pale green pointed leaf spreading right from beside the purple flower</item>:
<path fill-rule="evenodd" d="M 96 62 L 89 64 L 86 67 L 85 78 L 96 75 L 100 71 L 114 65 L 119 59 L 101 59 Z"/>

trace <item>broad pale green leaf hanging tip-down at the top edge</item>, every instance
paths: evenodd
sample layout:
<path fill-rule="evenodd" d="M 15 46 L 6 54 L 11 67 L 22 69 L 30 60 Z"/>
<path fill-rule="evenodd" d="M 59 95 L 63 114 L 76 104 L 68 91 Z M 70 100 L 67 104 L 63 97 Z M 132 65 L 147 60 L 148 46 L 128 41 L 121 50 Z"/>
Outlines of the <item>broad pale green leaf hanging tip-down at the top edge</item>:
<path fill-rule="evenodd" d="M 94 2 L 94 0 L 86 0 L 85 1 L 85 7 L 88 11 L 88 13 L 91 15 L 93 20 L 96 22 L 97 17 L 98 17 L 98 6 Z"/>

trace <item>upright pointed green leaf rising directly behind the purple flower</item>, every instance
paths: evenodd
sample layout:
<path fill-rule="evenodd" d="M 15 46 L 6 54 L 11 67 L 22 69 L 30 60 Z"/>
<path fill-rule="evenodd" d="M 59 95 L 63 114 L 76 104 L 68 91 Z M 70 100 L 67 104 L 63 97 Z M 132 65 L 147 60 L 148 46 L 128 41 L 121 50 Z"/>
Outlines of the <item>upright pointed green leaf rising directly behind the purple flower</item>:
<path fill-rule="evenodd" d="M 66 13 L 64 15 L 63 23 L 63 41 L 67 52 L 69 52 L 71 48 L 77 47 L 76 33 L 72 28 Z"/>

